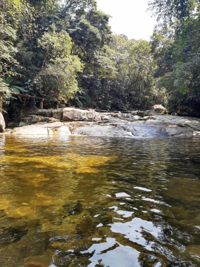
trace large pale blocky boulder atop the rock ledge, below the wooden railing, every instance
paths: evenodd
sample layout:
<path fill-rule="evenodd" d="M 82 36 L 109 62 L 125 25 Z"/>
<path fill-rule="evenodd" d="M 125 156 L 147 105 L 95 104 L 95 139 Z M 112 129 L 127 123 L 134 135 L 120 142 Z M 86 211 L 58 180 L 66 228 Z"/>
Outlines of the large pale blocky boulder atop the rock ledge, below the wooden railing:
<path fill-rule="evenodd" d="M 63 121 L 94 121 L 95 111 L 92 109 L 63 109 Z"/>

